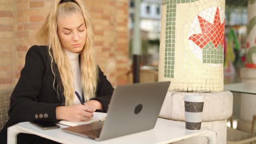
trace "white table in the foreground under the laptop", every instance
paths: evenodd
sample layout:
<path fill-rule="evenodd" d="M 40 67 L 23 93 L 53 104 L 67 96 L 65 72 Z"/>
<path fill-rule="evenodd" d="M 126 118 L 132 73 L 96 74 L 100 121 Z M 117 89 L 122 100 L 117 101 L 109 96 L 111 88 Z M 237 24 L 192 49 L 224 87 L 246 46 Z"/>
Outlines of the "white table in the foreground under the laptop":
<path fill-rule="evenodd" d="M 60 125 L 61 128 L 66 126 Z M 171 143 L 179 140 L 188 139 L 194 136 L 206 136 L 208 143 L 216 144 L 216 133 L 205 127 L 200 131 L 191 131 L 185 129 L 182 122 L 171 121 L 168 119 L 158 118 L 155 128 L 136 134 L 117 137 L 105 141 L 95 141 L 85 137 L 65 133 L 61 129 L 42 130 L 30 122 L 22 122 L 8 128 L 8 144 L 16 143 L 16 137 L 19 133 L 34 134 L 46 139 L 60 143 Z"/>

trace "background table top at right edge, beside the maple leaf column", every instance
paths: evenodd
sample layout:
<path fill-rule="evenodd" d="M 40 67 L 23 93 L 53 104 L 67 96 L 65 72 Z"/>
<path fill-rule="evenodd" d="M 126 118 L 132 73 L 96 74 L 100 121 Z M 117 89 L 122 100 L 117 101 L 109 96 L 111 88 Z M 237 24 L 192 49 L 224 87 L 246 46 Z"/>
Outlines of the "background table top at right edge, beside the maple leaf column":
<path fill-rule="evenodd" d="M 256 85 L 254 83 L 231 83 L 224 85 L 224 89 L 236 93 L 256 94 Z"/>

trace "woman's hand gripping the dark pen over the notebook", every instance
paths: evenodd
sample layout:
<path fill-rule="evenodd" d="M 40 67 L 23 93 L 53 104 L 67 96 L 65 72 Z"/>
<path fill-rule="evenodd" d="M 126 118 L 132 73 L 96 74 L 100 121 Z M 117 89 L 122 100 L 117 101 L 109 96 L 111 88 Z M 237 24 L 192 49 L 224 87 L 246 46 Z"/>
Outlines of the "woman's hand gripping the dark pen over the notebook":
<path fill-rule="evenodd" d="M 71 122 L 89 121 L 94 112 L 86 105 L 58 106 L 56 108 L 56 118 Z"/>

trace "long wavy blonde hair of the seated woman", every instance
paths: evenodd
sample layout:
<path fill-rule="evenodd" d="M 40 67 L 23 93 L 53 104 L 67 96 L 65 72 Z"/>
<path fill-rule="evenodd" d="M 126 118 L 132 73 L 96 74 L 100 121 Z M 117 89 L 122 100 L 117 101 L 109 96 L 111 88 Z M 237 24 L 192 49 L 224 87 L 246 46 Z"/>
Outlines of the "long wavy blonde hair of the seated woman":
<path fill-rule="evenodd" d="M 56 82 L 56 72 L 53 69 L 54 62 L 59 69 L 63 85 L 63 95 L 66 100 L 65 104 L 68 106 L 74 103 L 73 73 L 57 35 L 57 18 L 60 17 L 60 15 L 79 12 L 84 17 L 87 37 L 83 50 L 80 52 L 80 73 L 81 87 L 86 101 L 96 97 L 98 68 L 95 60 L 95 51 L 93 49 L 91 19 L 85 5 L 80 0 L 73 0 L 73 2 L 64 2 L 61 4 L 60 1 L 61 0 L 55 0 L 53 2 L 50 12 L 44 21 L 44 25 L 37 33 L 37 37 L 41 43 L 49 47 L 48 52 L 51 58 L 51 70 L 54 74 L 53 87 Z M 58 90 L 55 89 L 55 91 L 60 95 Z"/>

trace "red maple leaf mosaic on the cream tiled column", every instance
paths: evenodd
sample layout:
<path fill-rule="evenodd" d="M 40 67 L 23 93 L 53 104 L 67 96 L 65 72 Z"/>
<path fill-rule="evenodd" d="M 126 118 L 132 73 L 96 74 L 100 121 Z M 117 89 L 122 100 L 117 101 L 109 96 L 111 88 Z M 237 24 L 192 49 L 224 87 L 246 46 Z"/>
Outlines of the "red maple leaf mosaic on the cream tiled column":
<path fill-rule="evenodd" d="M 197 15 L 197 17 L 202 33 L 191 35 L 189 40 L 194 41 L 201 49 L 210 43 L 210 41 L 212 41 L 215 48 L 217 48 L 219 44 L 223 46 L 225 21 L 223 23 L 220 21 L 219 8 L 217 7 L 213 23 L 208 22 L 199 15 Z"/>

